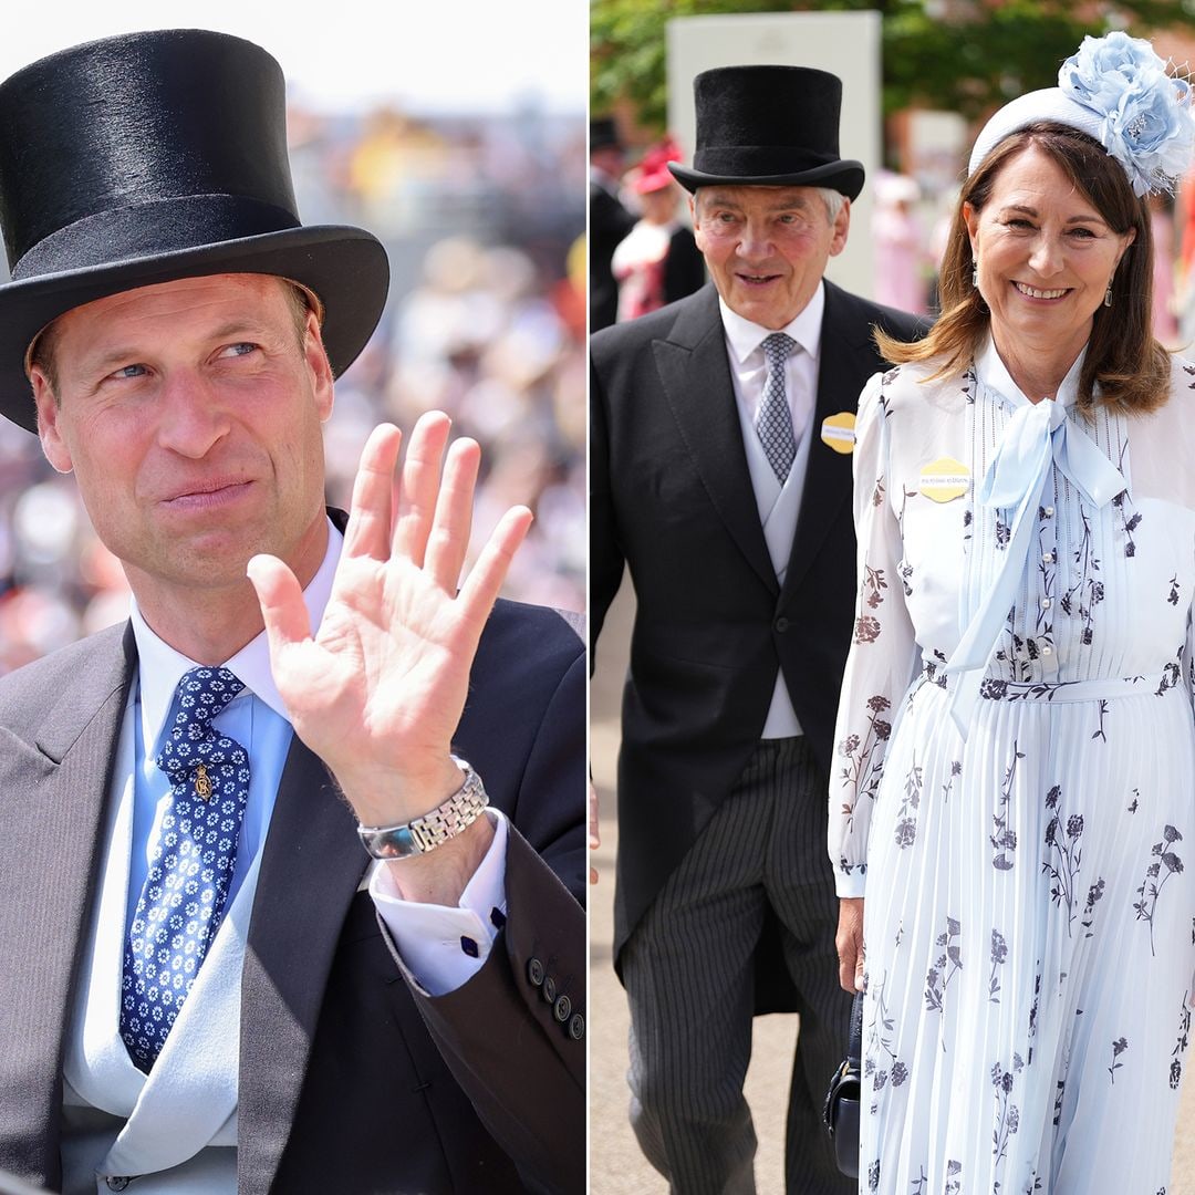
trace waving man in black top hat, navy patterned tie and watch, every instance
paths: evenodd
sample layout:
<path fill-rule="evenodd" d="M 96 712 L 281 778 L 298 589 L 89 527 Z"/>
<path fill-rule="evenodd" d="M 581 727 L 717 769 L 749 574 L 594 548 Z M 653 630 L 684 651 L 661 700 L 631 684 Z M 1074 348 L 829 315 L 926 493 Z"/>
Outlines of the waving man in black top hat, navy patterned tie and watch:
<path fill-rule="evenodd" d="M 478 453 L 442 415 L 325 513 L 387 265 L 300 225 L 264 50 L 88 43 L 0 127 L 0 411 L 135 599 L 0 682 L 0 1169 L 580 1190 L 583 651 L 495 605 L 528 513 L 459 582 Z"/>

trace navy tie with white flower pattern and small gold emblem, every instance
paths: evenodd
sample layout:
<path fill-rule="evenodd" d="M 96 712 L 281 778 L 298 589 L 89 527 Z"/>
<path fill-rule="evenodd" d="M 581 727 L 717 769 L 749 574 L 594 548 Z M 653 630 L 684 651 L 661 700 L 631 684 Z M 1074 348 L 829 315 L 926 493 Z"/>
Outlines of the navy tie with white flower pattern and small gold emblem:
<path fill-rule="evenodd" d="M 170 807 L 124 944 L 121 1036 L 148 1072 L 220 927 L 249 798 L 245 748 L 212 719 L 244 688 L 227 668 L 192 668 L 176 690 L 158 755 Z"/>

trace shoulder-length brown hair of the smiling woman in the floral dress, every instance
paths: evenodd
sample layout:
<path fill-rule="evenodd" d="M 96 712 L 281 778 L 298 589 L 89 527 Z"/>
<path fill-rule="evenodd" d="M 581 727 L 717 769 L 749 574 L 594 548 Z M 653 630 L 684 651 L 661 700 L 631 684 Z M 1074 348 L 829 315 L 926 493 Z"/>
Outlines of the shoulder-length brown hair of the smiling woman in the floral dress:
<path fill-rule="evenodd" d="M 1153 338 L 1153 238 L 1150 209 L 1133 194 L 1123 167 L 1098 141 L 1054 121 L 1037 121 L 1000 141 L 963 185 L 942 263 L 942 317 L 925 339 L 894 341 L 877 330 L 887 361 L 943 358 L 931 378 L 962 373 L 987 335 L 991 313 L 972 283 L 974 259 L 963 204 L 981 212 L 1004 166 L 1037 146 L 1091 201 L 1113 232 L 1136 237 L 1113 277 L 1113 305 L 1101 305 L 1091 323 L 1087 355 L 1079 375 L 1079 406 L 1097 402 L 1127 411 L 1152 411 L 1170 394 L 1170 354 Z M 1099 387 L 1099 398 L 1095 397 Z"/>

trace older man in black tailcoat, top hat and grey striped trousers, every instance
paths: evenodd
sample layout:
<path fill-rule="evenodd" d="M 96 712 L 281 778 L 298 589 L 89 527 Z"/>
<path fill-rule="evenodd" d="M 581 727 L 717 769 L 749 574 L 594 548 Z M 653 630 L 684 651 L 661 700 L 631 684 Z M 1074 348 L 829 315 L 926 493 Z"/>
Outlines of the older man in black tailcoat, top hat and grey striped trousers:
<path fill-rule="evenodd" d="M 614 944 L 631 1117 L 673 1190 L 754 1190 L 742 1080 L 779 974 L 779 1006 L 801 1013 L 788 1190 L 845 1195 L 820 1111 L 851 1004 L 825 858 L 854 590 L 850 428 L 882 366 L 872 327 L 914 321 L 822 277 L 863 188 L 839 157 L 840 81 L 747 66 L 694 87 L 693 167 L 670 168 L 712 283 L 590 342 L 594 636 L 624 566 L 637 603 Z"/>

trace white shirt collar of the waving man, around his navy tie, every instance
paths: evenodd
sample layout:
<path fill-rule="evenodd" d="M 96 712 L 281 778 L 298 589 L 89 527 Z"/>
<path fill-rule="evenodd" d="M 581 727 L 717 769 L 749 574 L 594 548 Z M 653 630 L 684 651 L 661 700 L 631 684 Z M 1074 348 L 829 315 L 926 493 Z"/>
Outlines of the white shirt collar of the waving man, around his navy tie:
<path fill-rule="evenodd" d="M 302 594 L 307 613 L 311 617 L 312 635 L 315 633 L 324 617 L 324 607 L 332 594 L 332 578 L 336 575 L 336 565 L 341 558 L 343 543 L 344 538 L 329 521 L 327 549 L 324 552 L 324 560 Z M 197 664 L 196 661 L 189 660 L 180 651 L 176 651 L 149 629 L 149 624 L 137 609 L 136 599 L 133 599 L 129 618 L 137 644 L 142 742 L 155 743 L 163 724 L 170 715 L 174 690 L 178 687 L 179 680 L 189 668 L 195 668 Z M 259 697 L 275 713 L 288 722 L 290 721 L 270 672 L 270 648 L 265 631 L 250 639 L 240 651 L 225 661 L 223 667 L 241 680 L 245 688 Z"/>

